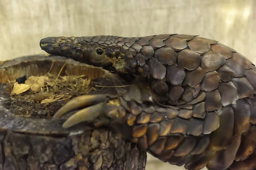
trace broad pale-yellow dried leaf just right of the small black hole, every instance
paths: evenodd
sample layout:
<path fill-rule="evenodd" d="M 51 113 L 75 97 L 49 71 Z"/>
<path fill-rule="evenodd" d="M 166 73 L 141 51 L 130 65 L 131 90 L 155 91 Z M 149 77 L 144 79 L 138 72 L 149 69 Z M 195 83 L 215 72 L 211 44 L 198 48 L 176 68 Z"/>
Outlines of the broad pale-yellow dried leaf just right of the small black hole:
<path fill-rule="evenodd" d="M 49 78 L 46 76 L 31 76 L 26 80 L 25 84 L 31 86 L 32 92 L 38 92 L 42 87 L 44 87 L 47 81 L 49 81 Z"/>

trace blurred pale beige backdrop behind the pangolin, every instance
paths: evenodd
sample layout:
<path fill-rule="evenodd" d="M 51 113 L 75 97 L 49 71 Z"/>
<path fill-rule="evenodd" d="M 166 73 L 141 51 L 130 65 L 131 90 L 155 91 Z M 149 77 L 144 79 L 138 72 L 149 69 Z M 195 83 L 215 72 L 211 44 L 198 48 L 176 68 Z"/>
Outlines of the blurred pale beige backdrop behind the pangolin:
<path fill-rule="evenodd" d="M 0 0 L 0 60 L 49 36 L 195 34 L 256 63 L 256 0 Z M 148 154 L 146 170 L 184 170 Z"/>

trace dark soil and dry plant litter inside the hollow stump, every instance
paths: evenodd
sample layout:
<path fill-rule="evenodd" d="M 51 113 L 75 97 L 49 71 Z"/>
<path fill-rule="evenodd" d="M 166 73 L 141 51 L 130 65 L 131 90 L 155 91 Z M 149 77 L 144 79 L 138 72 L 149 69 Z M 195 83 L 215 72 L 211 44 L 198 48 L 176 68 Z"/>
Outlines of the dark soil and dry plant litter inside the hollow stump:
<path fill-rule="evenodd" d="M 49 81 L 38 91 L 29 89 L 21 94 L 10 95 L 15 83 L 7 84 L 10 88 L 6 91 L 10 95 L 4 107 L 12 110 L 16 116 L 50 119 L 61 106 L 70 99 L 87 94 L 96 88 L 90 88 L 93 82 L 80 77 L 48 75 Z M 57 80 L 57 81 L 55 81 Z M 52 85 L 52 82 L 56 82 Z M 18 84 L 24 85 L 24 84 Z M 79 86 L 79 87 L 78 87 Z M 77 88 L 76 88 L 77 87 Z M 60 96 L 60 97 L 58 97 Z M 59 99 L 58 99 L 59 98 Z M 48 100 L 48 102 L 46 101 Z M 44 102 L 46 101 L 46 102 Z"/>

